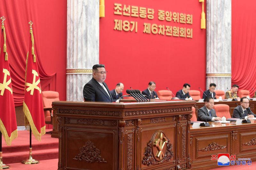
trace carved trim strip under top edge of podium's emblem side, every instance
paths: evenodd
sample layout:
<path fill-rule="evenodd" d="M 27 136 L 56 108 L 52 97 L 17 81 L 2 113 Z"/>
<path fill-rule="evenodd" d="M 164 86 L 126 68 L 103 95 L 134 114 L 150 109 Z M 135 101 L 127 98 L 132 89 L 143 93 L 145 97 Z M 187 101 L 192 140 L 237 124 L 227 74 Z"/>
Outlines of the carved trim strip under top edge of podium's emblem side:
<path fill-rule="evenodd" d="M 172 112 L 184 112 L 190 111 L 191 107 L 179 107 L 179 108 L 168 108 L 168 109 L 154 109 L 154 110 L 137 110 L 137 111 L 127 111 L 124 112 L 125 116 L 132 115 L 149 115 L 149 114 L 159 114 L 159 113 L 172 113 Z"/>

